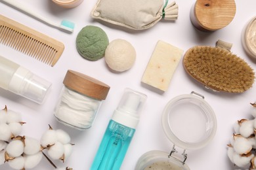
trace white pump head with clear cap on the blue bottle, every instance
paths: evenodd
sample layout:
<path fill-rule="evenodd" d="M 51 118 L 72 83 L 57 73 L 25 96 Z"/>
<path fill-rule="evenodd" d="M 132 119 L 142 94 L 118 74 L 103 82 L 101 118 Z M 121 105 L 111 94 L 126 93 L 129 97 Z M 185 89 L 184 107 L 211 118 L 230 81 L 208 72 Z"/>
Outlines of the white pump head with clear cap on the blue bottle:
<path fill-rule="evenodd" d="M 143 93 L 126 88 L 112 120 L 135 129 L 139 123 L 139 114 L 144 107 L 146 98 L 147 96 Z"/>

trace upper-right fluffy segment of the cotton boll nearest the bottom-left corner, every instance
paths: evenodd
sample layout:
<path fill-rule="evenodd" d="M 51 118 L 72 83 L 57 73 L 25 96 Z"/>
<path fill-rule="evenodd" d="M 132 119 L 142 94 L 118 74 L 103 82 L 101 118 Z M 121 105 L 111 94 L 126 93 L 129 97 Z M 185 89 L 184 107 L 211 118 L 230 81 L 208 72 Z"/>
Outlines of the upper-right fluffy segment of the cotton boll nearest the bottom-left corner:
<path fill-rule="evenodd" d="M 33 155 L 39 152 L 40 150 L 41 150 L 41 144 L 39 143 L 39 141 L 31 137 L 26 137 L 25 147 L 24 147 L 25 154 Z"/>

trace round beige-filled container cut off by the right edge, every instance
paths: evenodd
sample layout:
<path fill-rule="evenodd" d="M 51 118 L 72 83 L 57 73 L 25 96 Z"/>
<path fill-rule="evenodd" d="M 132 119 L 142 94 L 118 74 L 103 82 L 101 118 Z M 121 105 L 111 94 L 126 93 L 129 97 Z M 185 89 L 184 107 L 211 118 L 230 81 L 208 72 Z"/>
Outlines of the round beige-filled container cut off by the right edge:
<path fill-rule="evenodd" d="M 245 52 L 256 59 L 256 16 L 251 18 L 242 31 L 242 44 Z"/>

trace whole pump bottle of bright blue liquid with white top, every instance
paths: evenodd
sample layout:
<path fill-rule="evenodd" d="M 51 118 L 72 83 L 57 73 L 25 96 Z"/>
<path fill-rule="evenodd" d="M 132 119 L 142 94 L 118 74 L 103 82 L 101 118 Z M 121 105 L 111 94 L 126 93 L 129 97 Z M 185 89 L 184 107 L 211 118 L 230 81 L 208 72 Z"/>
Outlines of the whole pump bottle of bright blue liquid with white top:
<path fill-rule="evenodd" d="M 104 133 L 91 170 L 120 169 L 139 123 L 139 112 L 142 110 L 146 98 L 143 93 L 129 88 L 125 89 Z"/>

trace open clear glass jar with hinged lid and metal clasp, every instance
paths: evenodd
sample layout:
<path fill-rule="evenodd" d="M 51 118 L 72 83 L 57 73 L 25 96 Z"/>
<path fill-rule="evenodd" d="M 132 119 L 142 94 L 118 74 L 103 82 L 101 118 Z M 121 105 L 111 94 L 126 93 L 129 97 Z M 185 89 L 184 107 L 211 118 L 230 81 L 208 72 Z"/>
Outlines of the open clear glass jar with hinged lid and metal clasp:
<path fill-rule="evenodd" d="M 203 95 L 196 92 L 178 95 L 165 106 L 162 126 L 173 143 L 171 153 L 152 150 L 140 156 L 135 170 L 175 169 L 189 170 L 186 150 L 198 150 L 215 136 L 217 120 L 211 106 Z M 177 154 L 176 146 L 183 149 Z"/>

